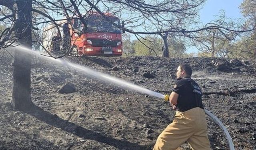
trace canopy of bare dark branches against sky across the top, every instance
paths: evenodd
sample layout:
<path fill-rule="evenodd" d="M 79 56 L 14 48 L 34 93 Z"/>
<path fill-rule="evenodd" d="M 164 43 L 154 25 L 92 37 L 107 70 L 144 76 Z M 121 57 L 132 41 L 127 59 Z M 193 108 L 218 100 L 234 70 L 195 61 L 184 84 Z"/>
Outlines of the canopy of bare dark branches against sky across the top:
<path fill-rule="evenodd" d="M 26 0 L 23 1 L 26 2 Z M 33 29 L 34 41 L 40 43 L 42 41 L 36 37 L 46 24 L 52 22 L 58 28 L 56 21 L 68 20 L 73 17 L 80 18 L 84 22 L 86 14 L 94 11 L 99 14 L 111 12 L 118 16 L 124 21 L 124 27 L 113 24 L 128 33 L 137 35 L 138 38 L 142 34 L 156 36 L 167 33 L 172 38 L 193 39 L 197 37 L 194 33 L 216 30 L 231 40 L 245 31 L 253 30 L 254 26 L 244 28 L 244 22 L 238 24 L 225 19 L 201 24 L 198 12 L 205 2 L 206 0 L 32 0 L 33 17 L 30 28 Z M 1 11 L 0 15 L 2 16 L 0 20 L 6 22 L 7 26 L 11 26 L 17 19 L 15 18 L 15 3 L 16 0 L 0 0 L 1 10 L 8 8 L 8 11 Z M 245 6 L 244 4 L 243 7 Z M 249 15 L 250 13 L 244 12 L 244 14 Z M 104 17 L 107 21 L 109 20 L 107 16 Z M 2 34 L 10 34 L 10 32 Z M 148 53 L 151 54 L 151 51 Z"/>

